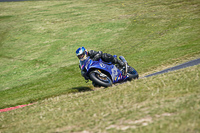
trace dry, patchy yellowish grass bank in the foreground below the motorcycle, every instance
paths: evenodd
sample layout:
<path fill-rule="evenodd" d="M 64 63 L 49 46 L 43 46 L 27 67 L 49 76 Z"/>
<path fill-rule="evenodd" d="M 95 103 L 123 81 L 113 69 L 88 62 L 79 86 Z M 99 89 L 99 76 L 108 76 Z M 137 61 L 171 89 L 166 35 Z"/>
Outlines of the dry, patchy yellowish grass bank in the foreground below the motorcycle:
<path fill-rule="evenodd" d="M 1 114 L 2 132 L 199 132 L 200 66 Z"/>

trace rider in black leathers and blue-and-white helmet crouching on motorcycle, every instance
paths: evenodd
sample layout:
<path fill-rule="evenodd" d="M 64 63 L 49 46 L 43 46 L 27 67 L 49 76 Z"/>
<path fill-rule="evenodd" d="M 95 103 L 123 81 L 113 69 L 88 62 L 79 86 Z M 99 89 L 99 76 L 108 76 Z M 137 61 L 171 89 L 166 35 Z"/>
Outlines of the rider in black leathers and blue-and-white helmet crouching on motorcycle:
<path fill-rule="evenodd" d="M 102 51 L 98 52 L 94 50 L 87 51 L 84 47 L 80 47 L 76 50 L 76 56 L 79 58 L 80 64 L 87 58 L 87 56 L 90 56 L 90 58 L 93 61 L 97 61 L 101 58 L 105 62 L 112 62 L 113 64 L 118 64 L 122 68 L 126 68 L 126 63 L 122 62 L 121 60 L 118 60 L 117 58 L 115 58 L 110 54 L 103 53 Z M 122 72 L 123 75 L 125 75 L 124 69 L 122 70 Z"/>

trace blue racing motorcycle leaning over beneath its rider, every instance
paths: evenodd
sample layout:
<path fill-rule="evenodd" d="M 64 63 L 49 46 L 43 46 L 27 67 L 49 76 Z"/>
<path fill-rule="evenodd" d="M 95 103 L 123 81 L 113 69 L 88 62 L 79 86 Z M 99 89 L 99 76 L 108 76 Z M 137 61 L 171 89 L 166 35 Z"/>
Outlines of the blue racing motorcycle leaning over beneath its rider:
<path fill-rule="evenodd" d="M 114 55 L 117 58 L 116 55 Z M 109 87 L 112 84 L 125 82 L 139 77 L 137 71 L 128 65 L 123 56 L 119 59 L 126 63 L 127 68 L 120 68 L 111 62 L 104 62 L 102 59 L 93 61 L 87 57 L 84 61 L 80 62 L 81 74 L 86 80 L 91 80 L 95 87 Z M 126 70 L 123 74 L 123 69 Z"/>

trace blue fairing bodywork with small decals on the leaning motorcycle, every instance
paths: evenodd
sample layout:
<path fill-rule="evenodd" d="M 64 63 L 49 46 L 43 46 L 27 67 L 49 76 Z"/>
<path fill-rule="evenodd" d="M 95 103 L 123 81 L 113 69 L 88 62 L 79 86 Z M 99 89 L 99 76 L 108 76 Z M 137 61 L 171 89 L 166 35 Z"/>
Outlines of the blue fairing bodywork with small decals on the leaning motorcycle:
<path fill-rule="evenodd" d="M 93 61 L 89 57 L 80 62 L 81 69 L 86 71 L 86 75 L 89 76 L 89 73 L 94 69 L 99 69 L 109 73 L 112 78 L 113 83 L 121 82 L 126 80 L 127 76 L 122 76 L 122 72 L 112 63 L 107 63 L 99 59 L 99 61 Z"/>

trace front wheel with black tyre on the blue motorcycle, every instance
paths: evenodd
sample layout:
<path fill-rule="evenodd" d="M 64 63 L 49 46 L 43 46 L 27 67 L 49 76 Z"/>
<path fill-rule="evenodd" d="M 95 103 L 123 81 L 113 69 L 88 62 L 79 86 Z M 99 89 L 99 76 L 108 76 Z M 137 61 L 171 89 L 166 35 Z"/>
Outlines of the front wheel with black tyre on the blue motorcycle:
<path fill-rule="evenodd" d="M 109 76 L 107 76 L 104 73 L 94 70 L 90 72 L 89 76 L 95 85 L 99 85 L 103 87 L 112 86 L 112 80 L 110 79 Z"/>

